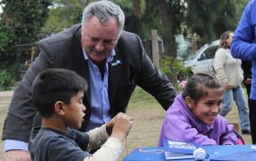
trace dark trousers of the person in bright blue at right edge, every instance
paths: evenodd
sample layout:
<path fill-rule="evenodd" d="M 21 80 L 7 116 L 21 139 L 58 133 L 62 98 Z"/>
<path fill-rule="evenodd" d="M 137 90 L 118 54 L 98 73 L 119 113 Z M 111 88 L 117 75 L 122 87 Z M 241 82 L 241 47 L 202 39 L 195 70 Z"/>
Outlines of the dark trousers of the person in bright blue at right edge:
<path fill-rule="evenodd" d="M 256 100 L 249 100 L 252 144 L 256 144 Z"/>

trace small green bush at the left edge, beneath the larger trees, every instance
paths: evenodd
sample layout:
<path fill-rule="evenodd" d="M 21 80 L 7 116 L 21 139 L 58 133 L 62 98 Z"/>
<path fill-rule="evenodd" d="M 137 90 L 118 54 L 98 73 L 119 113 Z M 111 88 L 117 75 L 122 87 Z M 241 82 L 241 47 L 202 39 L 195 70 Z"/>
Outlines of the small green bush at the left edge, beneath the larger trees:
<path fill-rule="evenodd" d="M 10 72 L 0 71 L 0 90 L 10 90 L 13 85 L 13 79 Z"/>

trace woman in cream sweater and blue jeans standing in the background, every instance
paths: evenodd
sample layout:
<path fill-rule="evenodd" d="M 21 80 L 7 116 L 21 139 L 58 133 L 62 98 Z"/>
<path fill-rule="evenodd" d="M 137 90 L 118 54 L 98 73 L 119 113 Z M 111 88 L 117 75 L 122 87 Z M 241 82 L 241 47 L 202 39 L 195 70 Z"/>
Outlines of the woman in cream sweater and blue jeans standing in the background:
<path fill-rule="evenodd" d="M 214 68 L 216 78 L 225 84 L 225 94 L 220 115 L 225 116 L 232 109 L 233 101 L 238 108 L 243 134 L 250 134 L 249 112 L 241 85 L 243 70 L 241 60 L 235 59 L 230 53 L 230 43 L 233 39 L 233 31 L 225 31 L 220 36 L 219 48 L 215 55 Z"/>

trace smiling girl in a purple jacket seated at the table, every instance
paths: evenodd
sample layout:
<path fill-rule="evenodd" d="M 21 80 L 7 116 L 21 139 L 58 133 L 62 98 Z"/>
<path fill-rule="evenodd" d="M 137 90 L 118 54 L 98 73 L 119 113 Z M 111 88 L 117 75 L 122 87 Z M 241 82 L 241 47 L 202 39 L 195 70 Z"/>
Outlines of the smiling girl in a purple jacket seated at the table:
<path fill-rule="evenodd" d="M 219 114 L 224 87 L 209 73 L 196 73 L 167 110 L 158 146 L 163 140 L 195 142 L 201 145 L 235 145 L 233 125 Z"/>

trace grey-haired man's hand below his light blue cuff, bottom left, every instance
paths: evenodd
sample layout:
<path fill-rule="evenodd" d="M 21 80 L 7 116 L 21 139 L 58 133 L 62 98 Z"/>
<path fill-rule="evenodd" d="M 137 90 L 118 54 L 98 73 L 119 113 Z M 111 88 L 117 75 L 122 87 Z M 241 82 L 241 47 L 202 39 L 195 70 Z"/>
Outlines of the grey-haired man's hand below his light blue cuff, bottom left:
<path fill-rule="evenodd" d="M 31 161 L 31 154 L 25 150 L 8 150 L 4 152 L 5 161 Z"/>

